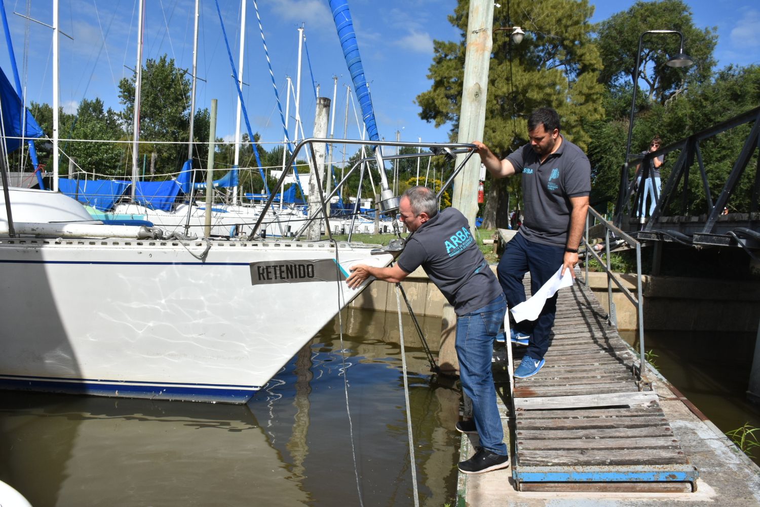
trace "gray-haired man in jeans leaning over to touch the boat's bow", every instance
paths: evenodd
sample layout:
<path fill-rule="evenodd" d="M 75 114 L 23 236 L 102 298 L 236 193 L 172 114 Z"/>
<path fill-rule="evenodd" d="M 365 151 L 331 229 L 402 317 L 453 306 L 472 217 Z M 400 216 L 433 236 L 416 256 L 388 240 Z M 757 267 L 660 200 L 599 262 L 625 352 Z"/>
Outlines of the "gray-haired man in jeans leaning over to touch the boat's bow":
<path fill-rule="evenodd" d="M 438 211 L 435 194 L 416 186 L 404 192 L 399 213 L 413 235 L 396 264 L 388 268 L 354 265 L 348 277 L 356 288 L 368 277 L 395 283 L 422 266 L 457 314 L 456 350 L 462 389 L 473 402 L 473 419 L 481 447 L 467 461 L 464 474 L 506 468 L 509 456 L 496 406 L 491 358 L 493 341 L 504 322 L 506 301 L 493 272 L 470 233 L 467 218 L 454 208 Z"/>

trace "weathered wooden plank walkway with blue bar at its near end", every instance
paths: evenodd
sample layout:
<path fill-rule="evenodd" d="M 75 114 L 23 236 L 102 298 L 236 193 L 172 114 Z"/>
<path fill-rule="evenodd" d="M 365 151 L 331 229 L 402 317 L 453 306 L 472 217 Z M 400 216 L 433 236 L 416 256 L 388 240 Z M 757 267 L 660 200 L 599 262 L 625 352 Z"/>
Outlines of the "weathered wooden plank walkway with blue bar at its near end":
<path fill-rule="evenodd" d="M 578 280 L 559 291 L 546 365 L 515 379 L 511 401 L 518 491 L 694 491 L 689 463 L 638 356 L 591 290 Z M 526 286 L 530 280 L 526 276 Z M 495 360 L 504 362 L 497 347 Z M 513 347 L 519 364 L 524 347 Z"/>

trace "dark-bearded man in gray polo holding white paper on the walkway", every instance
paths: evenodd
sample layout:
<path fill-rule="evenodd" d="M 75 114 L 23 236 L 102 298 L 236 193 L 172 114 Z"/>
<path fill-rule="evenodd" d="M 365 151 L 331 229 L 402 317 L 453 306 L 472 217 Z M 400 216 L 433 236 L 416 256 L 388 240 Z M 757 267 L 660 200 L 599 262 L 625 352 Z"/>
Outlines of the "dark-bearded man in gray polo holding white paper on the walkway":
<path fill-rule="evenodd" d="M 525 301 L 523 277 L 530 271 L 530 293 L 536 293 L 562 266 L 562 274 L 578 264 L 578 245 L 583 235 L 588 195 L 591 193 L 591 164 L 581 151 L 559 133 L 559 115 L 554 109 L 536 109 L 527 120 L 530 143 L 499 160 L 480 141 L 474 141 L 480 160 L 495 178 L 522 173 L 524 219 L 515 237 L 507 243 L 499 261 L 499 283 L 510 307 Z M 549 349 L 549 332 L 554 325 L 557 294 L 546 300 L 539 317 L 511 328 L 511 340 L 527 345 L 515 369 L 515 377 L 535 375 L 544 365 Z"/>

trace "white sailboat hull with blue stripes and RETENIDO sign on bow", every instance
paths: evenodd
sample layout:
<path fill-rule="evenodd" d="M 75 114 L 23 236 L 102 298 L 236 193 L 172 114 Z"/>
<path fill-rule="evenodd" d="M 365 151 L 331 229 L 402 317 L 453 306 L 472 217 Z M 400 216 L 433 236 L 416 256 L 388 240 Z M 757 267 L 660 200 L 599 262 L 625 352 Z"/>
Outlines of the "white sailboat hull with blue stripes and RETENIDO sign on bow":
<path fill-rule="evenodd" d="M 345 283 L 353 264 L 391 258 L 346 243 L 6 234 L 0 388 L 245 403 L 360 292 Z"/>

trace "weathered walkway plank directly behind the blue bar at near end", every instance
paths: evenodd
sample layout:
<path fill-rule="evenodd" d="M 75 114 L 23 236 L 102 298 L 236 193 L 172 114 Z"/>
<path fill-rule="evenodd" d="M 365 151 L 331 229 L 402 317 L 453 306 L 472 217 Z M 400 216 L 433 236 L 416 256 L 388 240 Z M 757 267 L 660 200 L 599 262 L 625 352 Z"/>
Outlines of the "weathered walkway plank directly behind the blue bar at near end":
<path fill-rule="evenodd" d="M 641 464 L 686 464 L 688 460 L 682 451 L 676 449 L 637 449 L 636 452 L 616 452 L 597 450 L 524 451 L 518 452 L 518 465 L 538 466 L 589 466 L 589 465 L 641 465 Z"/>

